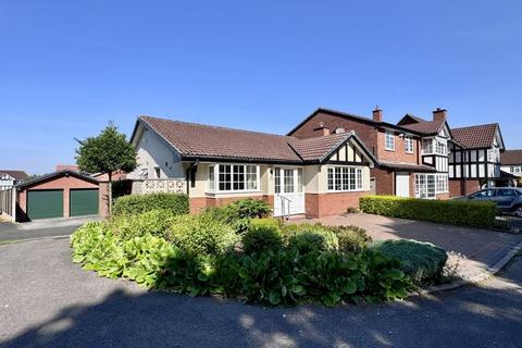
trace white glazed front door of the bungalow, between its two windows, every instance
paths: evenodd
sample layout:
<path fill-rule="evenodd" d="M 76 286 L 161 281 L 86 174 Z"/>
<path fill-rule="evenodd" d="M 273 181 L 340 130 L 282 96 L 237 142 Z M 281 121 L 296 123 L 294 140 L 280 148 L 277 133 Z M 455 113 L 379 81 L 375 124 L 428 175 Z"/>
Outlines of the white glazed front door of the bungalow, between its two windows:
<path fill-rule="evenodd" d="M 274 216 L 303 213 L 302 169 L 274 167 Z"/>

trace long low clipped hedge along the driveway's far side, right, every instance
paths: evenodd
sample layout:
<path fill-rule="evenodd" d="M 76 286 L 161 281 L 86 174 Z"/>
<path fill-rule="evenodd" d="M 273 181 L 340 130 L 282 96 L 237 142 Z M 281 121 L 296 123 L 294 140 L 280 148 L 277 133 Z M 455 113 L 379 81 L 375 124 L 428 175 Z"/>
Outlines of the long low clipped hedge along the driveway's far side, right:
<path fill-rule="evenodd" d="M 360 200 L 365 213 L 431 221 L 443 224 L 489 228 L 495 222 L 494 202 L 428 200 L 393 196 L 364 196 Z"/>

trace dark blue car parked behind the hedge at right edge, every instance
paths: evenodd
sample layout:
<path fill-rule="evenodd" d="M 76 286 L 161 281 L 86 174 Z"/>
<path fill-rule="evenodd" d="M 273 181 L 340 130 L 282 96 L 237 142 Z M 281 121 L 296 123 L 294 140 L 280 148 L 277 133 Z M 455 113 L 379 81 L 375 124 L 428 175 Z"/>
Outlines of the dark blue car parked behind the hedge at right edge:
<path fill-rule="evenodd" d="M 458 200 L 490 200 L 497 203 L 501 213 L 511 213 L 522 217 L 522 188 L 496 187 L 481 189 L 469 196 L 456 198 Z"/>

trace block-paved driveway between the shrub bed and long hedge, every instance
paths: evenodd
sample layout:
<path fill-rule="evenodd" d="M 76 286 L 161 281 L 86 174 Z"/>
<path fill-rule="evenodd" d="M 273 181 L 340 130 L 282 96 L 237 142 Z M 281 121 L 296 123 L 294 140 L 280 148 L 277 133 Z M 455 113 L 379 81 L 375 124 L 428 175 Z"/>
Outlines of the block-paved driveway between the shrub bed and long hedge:
<path fill-rule="evenodd" d="M 415 239 L 433 243 L 447 251 L 455 251 L 468 259 L 492 266 L 522 241 L 521 234 L 467 228 L 430 222 L 394 219 L 371 214 L 348 214 L 319 220 L 326 225 L 355 225 L 366 229 L 376 240 Z"/>

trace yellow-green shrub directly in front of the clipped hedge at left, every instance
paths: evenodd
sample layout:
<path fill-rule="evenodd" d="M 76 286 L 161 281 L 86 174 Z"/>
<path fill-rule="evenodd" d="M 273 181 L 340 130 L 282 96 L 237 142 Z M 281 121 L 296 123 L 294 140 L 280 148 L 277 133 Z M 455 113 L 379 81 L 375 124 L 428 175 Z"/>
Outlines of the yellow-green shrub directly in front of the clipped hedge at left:
<path fill-rule="evenodd" d="M 123 239 L 150 234 L 165 237 L 171 220 L 177 214 L 172 210 L 151 210 L 136 215 L 116 215 L 110 221 L 110 227 Z"/>

